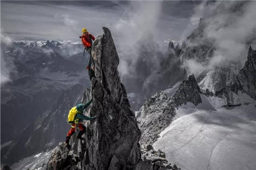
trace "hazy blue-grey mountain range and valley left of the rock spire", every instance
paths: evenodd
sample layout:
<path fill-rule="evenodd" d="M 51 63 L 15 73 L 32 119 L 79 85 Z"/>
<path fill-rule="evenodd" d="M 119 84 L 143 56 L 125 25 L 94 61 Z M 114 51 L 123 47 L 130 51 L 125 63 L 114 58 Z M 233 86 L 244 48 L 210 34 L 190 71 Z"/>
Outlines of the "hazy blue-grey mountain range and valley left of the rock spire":
<path fill-rule="evenodd" d="M 69 128 L 65 115 L 90 84 L 85 64 L 88 57 L 82 56 L 79 46 L 57 41 L 1 44 L 5 63 L 1 71 L 7 71 L 9 77 L 1 83 L 3 163 L 52 149 L 63 140 L 63 129 Z M 62 56 L 65 49 L 75 48 L 80 53 Z"/>

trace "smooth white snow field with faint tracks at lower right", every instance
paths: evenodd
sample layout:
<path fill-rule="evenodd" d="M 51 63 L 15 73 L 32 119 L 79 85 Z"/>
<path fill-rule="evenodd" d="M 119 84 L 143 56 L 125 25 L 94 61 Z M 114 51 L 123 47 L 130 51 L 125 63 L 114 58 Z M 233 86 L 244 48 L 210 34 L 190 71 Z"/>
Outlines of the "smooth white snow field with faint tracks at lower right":
<path fill-rule="evenodd" d="M 226 109 L 221 98 L 201 96 L 202 104 L 179 107 L 153 147 L 181 169 L 255 169 L 256 102 L 233 96 L 241 106 Z"/>

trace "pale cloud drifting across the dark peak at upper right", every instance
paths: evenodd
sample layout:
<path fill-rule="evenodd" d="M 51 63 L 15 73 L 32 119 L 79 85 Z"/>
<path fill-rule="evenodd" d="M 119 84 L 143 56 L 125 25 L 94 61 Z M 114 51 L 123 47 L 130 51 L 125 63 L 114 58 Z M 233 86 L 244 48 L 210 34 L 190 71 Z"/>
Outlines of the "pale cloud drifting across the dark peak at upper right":
<path fill-rule="evenodd" d="M 225 1 L 203 2 L 195 8 L 190 25 L 197 24 L 197 18 L 204 18 L 204 38 L 214 39 L 214 56 L 207 66 L 195 61 L 185 64 L 191 72 L 209 69 L 224 63 L 244 63 L 249 45 L 256 46 L 256 2 Z M 194 65 L 194 67 L 191 67 Z M 194 68 L 194 69 L 193 69 Z"/>

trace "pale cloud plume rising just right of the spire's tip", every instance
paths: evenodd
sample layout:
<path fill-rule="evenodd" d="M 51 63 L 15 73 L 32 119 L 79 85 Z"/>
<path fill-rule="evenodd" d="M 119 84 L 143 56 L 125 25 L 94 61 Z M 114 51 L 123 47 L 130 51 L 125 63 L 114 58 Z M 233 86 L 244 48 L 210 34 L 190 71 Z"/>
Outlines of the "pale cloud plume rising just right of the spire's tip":
<path fill-rule="evenodd" d="M 109 26 L 114 33 L 115 44 L 121 58 L 119 63 L 121 76 L 133 73 L 134 64 L 140 55 L 137 51 L 138 41 L 141 39 L 145 43 L 154 41 L 154 37 L 149 39 L 148 36 L 158 32 L 157 24 L 160 19 L 162 2 L 132 1 L 130 5 L 124 15 Z M 144 47 L 145 51 L 146 48 L 147 46 Z"/>

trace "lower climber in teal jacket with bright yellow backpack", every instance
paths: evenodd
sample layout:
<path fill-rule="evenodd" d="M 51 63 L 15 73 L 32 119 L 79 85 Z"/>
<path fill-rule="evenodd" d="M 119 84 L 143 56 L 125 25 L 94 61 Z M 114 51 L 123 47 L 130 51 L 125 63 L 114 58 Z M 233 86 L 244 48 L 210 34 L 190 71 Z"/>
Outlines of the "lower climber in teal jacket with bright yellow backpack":
<path fill-rule="evenodd" d="M 91 99 L 86 104 L 78 104 L 77 106 L 71 108 L 69 111 L 68 123 L 72 125 L 66 137 L 66 146 L 68 149 L 71 148 L 69 144 L 69 140 L 71 136 L 75 133 L 76 127 L 80 129 L 76 138 L 80 140 L 84 140 L 82 135 L 86 132 L 86 127 L 82 124 L 82 120 L 94 120 L 96 118 L 96 117 L 89 117 L 83 114 L 83 110 L 86 109 L 92 103 L 92 100 L 93 99 Z"/>

